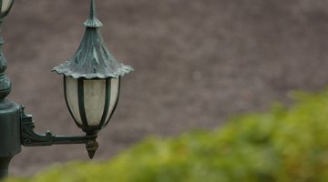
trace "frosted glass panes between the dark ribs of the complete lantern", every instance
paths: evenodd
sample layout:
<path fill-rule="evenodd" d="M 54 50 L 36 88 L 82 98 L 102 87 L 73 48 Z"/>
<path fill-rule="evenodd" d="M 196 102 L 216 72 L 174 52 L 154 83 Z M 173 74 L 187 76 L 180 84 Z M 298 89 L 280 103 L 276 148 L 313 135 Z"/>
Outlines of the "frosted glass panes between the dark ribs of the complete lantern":
<path fill-rule="evenodd" d="M 77 124 L 83 126 L 81 112 L 84 112 L 88 126 L 99 126 L 103 119 L 106 124 L 118 101 L 119 78 L 83 80 L 83 99 L 78 98 L 77 79 L 65 76 L 67 106 Z M 108 96 L 106 96 L 108 94 Z M 108 99 L 108 100 L 107 100 Z M 84 110 L 80 110 L 81 100 Z M 106 109 L 106 110 L 105 110 Z M 83 115 L 82 115 L 83 116 Z"/>

